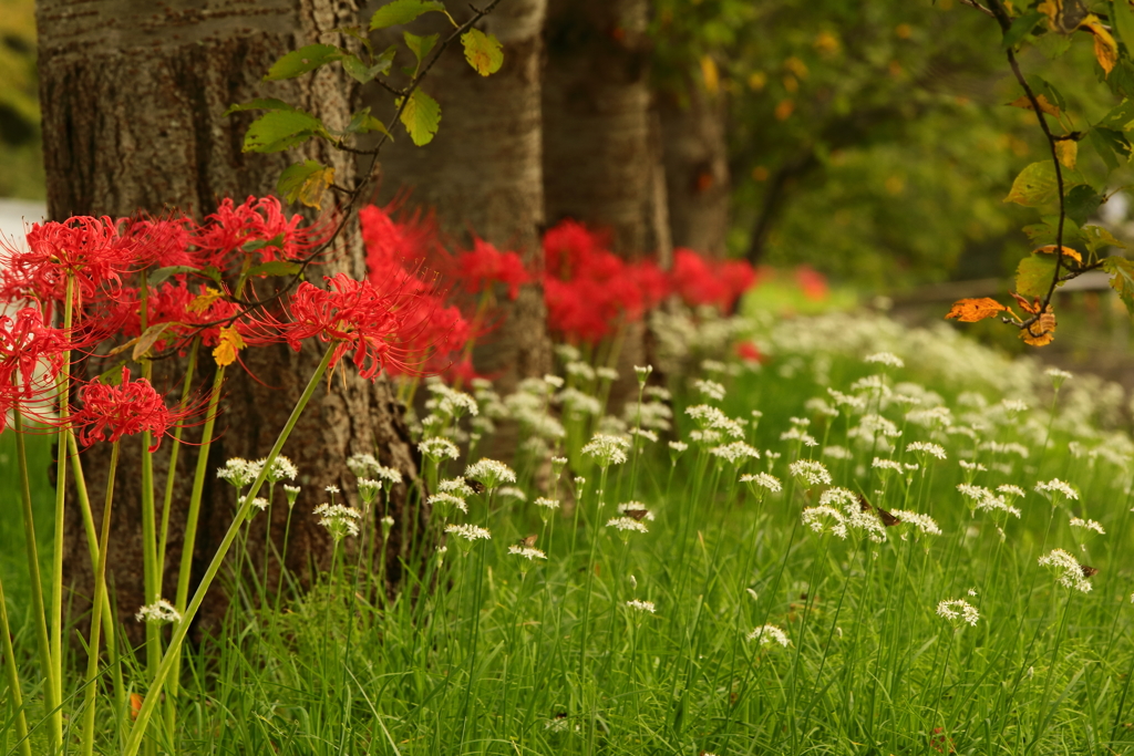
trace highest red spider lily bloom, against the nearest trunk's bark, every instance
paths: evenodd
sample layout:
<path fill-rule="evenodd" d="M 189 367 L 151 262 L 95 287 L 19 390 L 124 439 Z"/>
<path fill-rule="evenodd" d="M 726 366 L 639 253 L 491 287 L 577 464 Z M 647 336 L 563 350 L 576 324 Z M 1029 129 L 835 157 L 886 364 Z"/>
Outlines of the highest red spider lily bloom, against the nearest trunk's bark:
<path fill-rule="evenodd" d="M 273 243 L 254 250 L 256 262 L 299 260 L 330 238 L 329 222 L 304 226 L 303 215 L 284 214 L 276 197 L 248 197 L 237 205 L 225 198 L 217 212 L 193 229 L 197 264 L 227 270 L 244 263 L 249 243 Z"/>

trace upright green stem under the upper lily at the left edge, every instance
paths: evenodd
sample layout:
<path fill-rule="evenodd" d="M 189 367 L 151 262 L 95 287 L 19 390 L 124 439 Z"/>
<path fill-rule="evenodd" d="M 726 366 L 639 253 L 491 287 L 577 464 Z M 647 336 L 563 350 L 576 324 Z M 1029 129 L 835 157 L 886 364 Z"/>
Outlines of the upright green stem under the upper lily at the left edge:
<path fill-rule="evenodd" d="M 75 318 L 75 277 L 67 277 L 64 295 L 64 332 L 69 333 Z M 59 392 L 59 442 L 56 452 L 56 533 L 51 553 L 51 737 L 56 750 L 64 742 L 64 517 L 67 503 L 67 436 L 70 434 L 70 349 L 62 354 L 62 367 L 56 388 Z"/>

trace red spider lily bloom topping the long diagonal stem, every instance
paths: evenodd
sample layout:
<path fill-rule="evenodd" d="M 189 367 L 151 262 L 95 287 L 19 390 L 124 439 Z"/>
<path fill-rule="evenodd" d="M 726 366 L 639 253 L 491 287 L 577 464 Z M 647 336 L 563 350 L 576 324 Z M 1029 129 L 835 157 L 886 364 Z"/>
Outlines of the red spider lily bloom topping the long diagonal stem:
<path fill-rule="evenodd" d="M 299 349 L 304 339 L 312 337 L 333 342 L 333 367 L 347 351 L 358 375 L 375 379 L 384 367 L 408 373 L 407 326 L 422 328 L 414 322 L 422 298 L 413 292 L 380 291 L 370 281 L 356 281 L 345 273 L 325 279 L 329 289 L 304 281 L 291 297 L 291 323 L 284 324 L 280 333 L 293 349 Z"/>

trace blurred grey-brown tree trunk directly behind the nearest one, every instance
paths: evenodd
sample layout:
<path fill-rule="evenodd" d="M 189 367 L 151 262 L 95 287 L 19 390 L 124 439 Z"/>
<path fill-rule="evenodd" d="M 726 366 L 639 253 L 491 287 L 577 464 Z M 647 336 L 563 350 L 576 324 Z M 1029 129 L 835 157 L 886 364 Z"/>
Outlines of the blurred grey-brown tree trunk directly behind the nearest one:
<path fill-rule="evenodd" d="M 408 189 L 408 204 L 435 212 L 441 231 L 456 244 L 471 245 L 475 233 L 519 253 L 536 271 L 542 270 L 540 34 L 545 7 L 547 0 L 507 0 L 480 23 L 503 44 L 503 66 L 491 76 L 477 74 L 456 50 L 443 56 L 423 85 L 441 105 L 437 137 L 417 147 L 399 136 L 381 161 L 380 202 Z M 452 12 L 458 23 L 469 16 L 467 8 Z M 431 15 L 413 28 L 443 36 L 452 27 Z M 393 42 L 389 36 L 381 42 Z M 381 90 L 370 93 L 371 100 L 383 96 Z M 507 392 L 517 379 L 545 373 L 551 350 L 541 287 L 525 286 L 515 303 L 498 304 L 496 320 L 502 325 L 477 347 L 475 365 Z"/>

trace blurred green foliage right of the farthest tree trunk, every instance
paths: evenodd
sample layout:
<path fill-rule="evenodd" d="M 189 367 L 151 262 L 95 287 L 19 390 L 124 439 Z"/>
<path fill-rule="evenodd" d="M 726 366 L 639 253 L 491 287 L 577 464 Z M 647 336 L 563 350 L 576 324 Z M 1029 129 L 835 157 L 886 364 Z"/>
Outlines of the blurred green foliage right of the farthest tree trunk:
<path fill-rule="evenodd" d="M 760 262 L 895 290 L 1008 275 L 1032 248 L 1018 229 L 1034 213 L 1002 199 L 1047 145 L 1033 113 L 1005 107 L 1022 92 L 993 19 L 956 0 L 658 7 L 659 86 L 728 99 L 733 254 L 767 216 Z M 1089 36 L 1046 44 L 1025 73 L 1060 85 L 1073 112 L 1106 112 Z"/>

